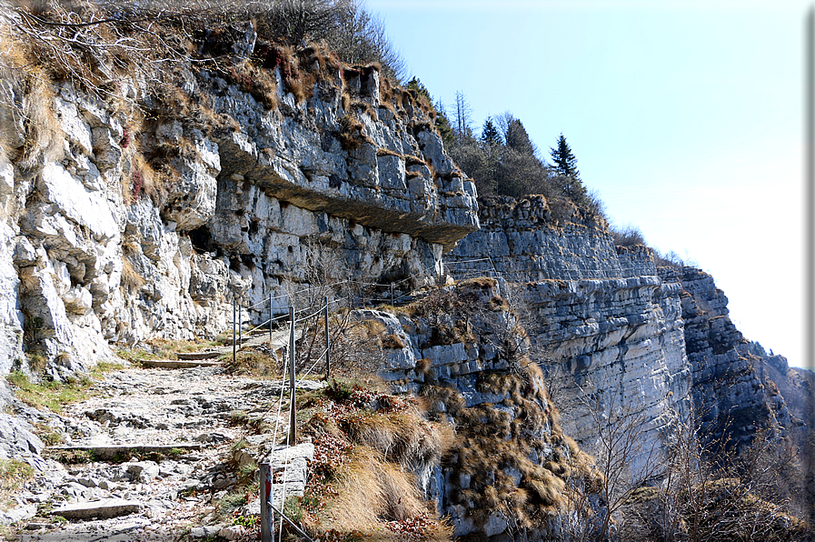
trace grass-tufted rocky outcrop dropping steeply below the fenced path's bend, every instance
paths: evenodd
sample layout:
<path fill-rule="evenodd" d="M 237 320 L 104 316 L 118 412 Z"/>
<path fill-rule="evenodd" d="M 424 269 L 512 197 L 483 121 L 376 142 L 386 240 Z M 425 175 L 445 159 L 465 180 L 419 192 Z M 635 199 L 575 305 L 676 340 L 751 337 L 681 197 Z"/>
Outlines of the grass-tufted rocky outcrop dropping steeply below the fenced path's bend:
<path fill-rule="evenodd" d="M 418 473 L 454 536 L 551 539 L 574 504 L 567 483 L 591 487 L 599 475 L 557 422 L 542 372 L 528 363 L 518 316 L 502 296 L 507 288 L 481 278 L 396 315 L 357 315 L 382 329 L 380 375 L 423 396 L 432 422 L 455 429 L 442 467 Z"/>

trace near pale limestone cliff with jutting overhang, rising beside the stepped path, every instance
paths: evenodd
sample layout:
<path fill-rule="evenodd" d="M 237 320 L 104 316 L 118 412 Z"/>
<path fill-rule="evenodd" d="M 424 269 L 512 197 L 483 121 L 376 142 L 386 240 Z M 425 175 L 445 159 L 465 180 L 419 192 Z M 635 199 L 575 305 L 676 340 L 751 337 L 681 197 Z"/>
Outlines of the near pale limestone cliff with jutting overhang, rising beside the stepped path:
<path fill-rule="evenodd" d="M 337 278 L 432 276 L 478 227 L 472 182 L 414 96 L 383 103 L 374 69 L 324 71 L 298 101 L 276 68 L 273 109 L 206 72 L 184 74 L 180 111 L 123 82 L 152 120 L 68 84 L 6 85 L 0 372 L 24 349 L 59 377 L 109 342 L 214 335 L 232 296 L 290 305 L 308 258 L 339 262 Z"/>

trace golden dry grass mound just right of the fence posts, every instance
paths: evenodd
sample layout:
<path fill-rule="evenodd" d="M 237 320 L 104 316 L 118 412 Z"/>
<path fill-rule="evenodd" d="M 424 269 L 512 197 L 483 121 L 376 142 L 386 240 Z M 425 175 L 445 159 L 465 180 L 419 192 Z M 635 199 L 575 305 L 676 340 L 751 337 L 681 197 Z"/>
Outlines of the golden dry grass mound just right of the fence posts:
<path fill-rule="evenodd" d="M 394 540 L 405 533 L 405 539 L 450 540 L 451 527 L 423 501 L 419 481 L 452 445 L 452 428 L 428 421 L 423 401 L 360 386 L 333 388 L 301 405 L 316 410 L 304 431 L 316 453 L 303 499 L 315 539 L 356 533 Z"/>

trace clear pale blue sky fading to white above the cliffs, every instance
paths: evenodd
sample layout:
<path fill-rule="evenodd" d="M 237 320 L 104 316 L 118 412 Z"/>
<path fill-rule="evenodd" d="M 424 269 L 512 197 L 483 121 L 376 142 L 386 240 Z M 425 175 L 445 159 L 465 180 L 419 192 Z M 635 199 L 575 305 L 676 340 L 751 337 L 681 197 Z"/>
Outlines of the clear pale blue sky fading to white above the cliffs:
<path fill-rule="evenodd" d="M 802 366 L 811 1 L 368 0 L 412 75 L 474 127 L 562 132 L 611 222 L 711 273 L 750 340 Z"/>

